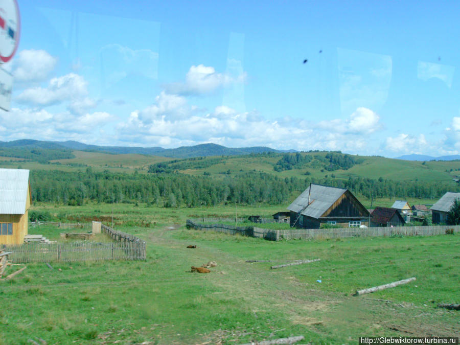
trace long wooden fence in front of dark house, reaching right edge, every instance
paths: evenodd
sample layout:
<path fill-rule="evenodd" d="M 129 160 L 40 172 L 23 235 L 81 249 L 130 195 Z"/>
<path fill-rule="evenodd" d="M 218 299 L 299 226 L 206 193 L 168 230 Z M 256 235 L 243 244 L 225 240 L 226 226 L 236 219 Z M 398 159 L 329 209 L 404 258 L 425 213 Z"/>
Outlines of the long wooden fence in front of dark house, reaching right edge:
<path fill-rule="evenodd" d="M 347 237 L 392 237 L 392 236 L 433 236 L 446 234 L 453 229 L 460 232 L 460 225 L 431 225 L 431 226 L 398 226 L 398 227 L 344 227 L 325 229 L 283 229 L 273 230 L 254 226 L 236 227 L 224 224 L 199 224 L 187 220 L 187 227 L 199 230 L 217 231 L 227 234 L 242 234 L 251 237 L 261 237 L 271 241 L 280 240 L 318 240 Z"/>

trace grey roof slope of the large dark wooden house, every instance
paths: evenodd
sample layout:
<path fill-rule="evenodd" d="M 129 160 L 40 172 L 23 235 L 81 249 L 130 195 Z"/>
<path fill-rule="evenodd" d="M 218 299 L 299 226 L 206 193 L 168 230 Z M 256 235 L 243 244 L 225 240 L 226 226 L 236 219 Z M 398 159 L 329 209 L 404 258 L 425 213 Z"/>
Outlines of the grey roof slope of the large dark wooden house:
<path fill-rule="evenodd" d="M 319 218 L 347 191 L 343 188 L 326 187 L 314 185 L 313 183 L 310 187 L 289 205 L 288 210 L 295 213 L 301 212 L 307 217 Z M 310 205 L 308 205 L 309 194 Z"/>

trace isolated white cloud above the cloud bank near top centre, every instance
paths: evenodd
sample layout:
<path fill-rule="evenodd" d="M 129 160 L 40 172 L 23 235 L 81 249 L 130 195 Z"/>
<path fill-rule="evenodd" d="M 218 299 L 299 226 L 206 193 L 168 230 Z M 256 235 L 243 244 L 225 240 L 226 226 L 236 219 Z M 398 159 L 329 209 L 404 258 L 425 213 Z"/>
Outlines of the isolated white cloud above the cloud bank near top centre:
<path fill-rule="evenodd" d="M 171 94 L 179 95 L 210 94 L 220 87 L 244 82 L 245 78 L 245 73 L 232 77 L 228 74 L 217 73 L 214 67 L 200 64 L 190 67 L 185 82 L 168 84 L 166 90 Z"/>

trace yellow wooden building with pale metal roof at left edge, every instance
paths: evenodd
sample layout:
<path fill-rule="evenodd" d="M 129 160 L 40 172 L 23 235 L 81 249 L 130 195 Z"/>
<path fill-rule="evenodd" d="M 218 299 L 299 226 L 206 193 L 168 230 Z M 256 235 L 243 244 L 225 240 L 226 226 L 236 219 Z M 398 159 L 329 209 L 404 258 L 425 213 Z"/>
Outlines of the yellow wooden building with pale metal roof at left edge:
<path fill-rule="evenodd" d="M 0 169 L 0 244 L 24 243 L 31 202 L 29 170 Z"/>

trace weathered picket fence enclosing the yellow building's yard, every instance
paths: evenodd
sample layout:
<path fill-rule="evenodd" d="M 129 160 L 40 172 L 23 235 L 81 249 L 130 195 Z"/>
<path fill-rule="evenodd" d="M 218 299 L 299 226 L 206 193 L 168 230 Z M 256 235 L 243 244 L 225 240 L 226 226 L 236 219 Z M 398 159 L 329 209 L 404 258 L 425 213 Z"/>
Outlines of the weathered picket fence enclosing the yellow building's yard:
<path fill-rule="evenodd" d="M 102 224 L 101 230 L 116 242 L 77 241 L 3 245 L 14 263 L 51 261 L 146 260 L 145 242 Z"/>

